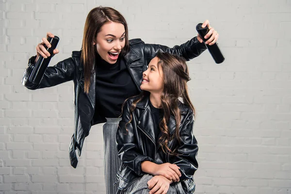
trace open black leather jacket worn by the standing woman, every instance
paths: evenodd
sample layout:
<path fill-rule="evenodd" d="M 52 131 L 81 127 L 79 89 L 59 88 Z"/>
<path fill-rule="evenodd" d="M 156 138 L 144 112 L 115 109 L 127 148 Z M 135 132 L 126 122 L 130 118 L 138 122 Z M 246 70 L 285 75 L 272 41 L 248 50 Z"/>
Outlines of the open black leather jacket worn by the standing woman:
<path fill-rule="evenodd" d="M 142 82 L 143 72 L 147 68 L 146 65 L 156 56 L 158 51 L 177 54 L 189 61 L 206 50 L 205 44 L 200 43 L 197 40 L 197 37 L 173 48 L 168 48 L 162 45 L 145 44 L 138 38 L 130 40 L 129 47 L 130 50 L 124 56 L 124 60 L 128 67 L 129 74 L 138 88 Z M 26 68 L 22 79 L 22 84 L 28 89 L 35 90 L 38 88 L 55 86 L 66 81 L 74 81 L 75 130 L 69 146 L 69 156 L 71 165 L 76 168 L 78 159 L 75 150 L 77 149 L 79 156 L 81 156 L 84 139 L 89 135 L 91 126 L 106 122 L 106 119 L 97 113 L 98 111 L 95 112 L 96 73 L 93 72 L 91 74 L 89 93 L 84 93 L 84 72 L 81 63 L 81 51 L 73 51 L 72 57 L 61 61 L 54 66 L 49 66 L 40 84 L 36 85 L 28 80 L 34 67 L 34 60 L 35 56 L 30 58 L 29 65 Z"/>

